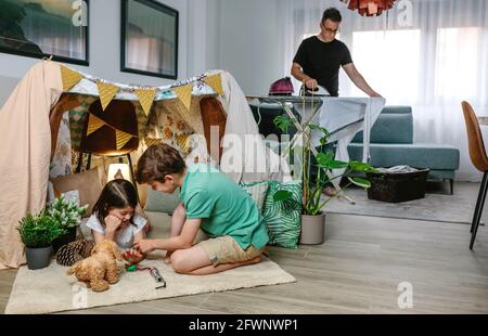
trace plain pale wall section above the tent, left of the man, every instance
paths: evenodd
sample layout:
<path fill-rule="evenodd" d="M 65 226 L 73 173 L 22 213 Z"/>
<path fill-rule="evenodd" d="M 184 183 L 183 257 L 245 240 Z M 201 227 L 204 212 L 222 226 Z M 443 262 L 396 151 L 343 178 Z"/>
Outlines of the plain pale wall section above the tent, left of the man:
<path fill-rule="evenodd" d="M 275 5 L 279 0 L 218 0 L 208 11 L 208 36 L 219 30 L 207 64 L 229 70 L 245 94 L 267 94 L 284 77 Z"/>

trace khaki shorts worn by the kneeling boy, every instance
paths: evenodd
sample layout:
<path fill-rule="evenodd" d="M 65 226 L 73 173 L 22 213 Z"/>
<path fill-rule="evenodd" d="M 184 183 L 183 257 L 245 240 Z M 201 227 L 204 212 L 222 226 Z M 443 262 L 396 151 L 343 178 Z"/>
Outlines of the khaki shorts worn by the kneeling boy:
<path fill-rule="evenodd" d="M 260 256 L 265 248 L 257 249 L 253 245 L 245 250 L 229 235 L 217 238 L 209 238 L 196 244 L 201 246 L 208 255 L 214 266 L 220 263 L 233 263 L 240 261 L 247 261 Z"/>

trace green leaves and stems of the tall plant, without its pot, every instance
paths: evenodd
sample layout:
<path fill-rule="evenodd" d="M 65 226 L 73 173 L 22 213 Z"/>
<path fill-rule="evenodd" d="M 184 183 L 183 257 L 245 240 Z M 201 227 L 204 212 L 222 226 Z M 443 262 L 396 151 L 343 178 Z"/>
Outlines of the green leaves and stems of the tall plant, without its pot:
<path fill-rule="evenodd" d="M 279 116 L 274 118 L 274 125 L 280 128 L 283 132 L 287 132 L 288 128 L 296 122 L 295 119 L 288 117 Z M 331 133 L 323 127 L 314 124 L 306 124 L 305 128 L 310 131 L 318 131 L 320 133 L 320 144 L 326 145 L 329 143 L 329 138 Z M 304 143 L 303 151 L 303 181 L 304 181 L 304 197 L 303 197 L 303 214 L 309 216 L 319 215 L 323 208 L 331 202 L 334 196 L 328 196 L 325 199 L 322 197 L 322 190 L 331 182 L 337 179 L 347 178 L 348 184 L 343 188 L 343 190 L 355 184 L 363 189 L 371 186 L 369 180 L 364 178 L 355 177 L 354 175 L 373 172 L 378 173 L 378 171 L 365 163 L 360 161 L 339 161 L 334 159 L 334 153 L 332 151 L 328 153 L 318 153 L 316 156 L 316 164 L 312 160 L 312 143 L 311 137 L 307 137 Z M 311 181 L 310 173 L 312 169 L 318 170 L 318 176 L 314 181 Z M 335 169 L 343 169 L 344 172 L 341 175 L 333 176 L 332 171 Z M 332 177 L 332 178 L 331 178 Z M 287 191 L 279 191 L 273 195 L 274 202 L 291 202 L 291 194 Z"/>

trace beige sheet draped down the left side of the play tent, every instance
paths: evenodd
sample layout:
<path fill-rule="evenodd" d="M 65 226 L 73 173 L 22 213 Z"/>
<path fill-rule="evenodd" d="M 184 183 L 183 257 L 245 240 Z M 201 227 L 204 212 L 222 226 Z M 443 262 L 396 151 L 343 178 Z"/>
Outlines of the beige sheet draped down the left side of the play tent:
<path fill-rule="evenodd" d="M 51 131 L 49 113 L 62 93 L 60 65 L 34 66 L 0 111 L 0 269 L 25 262 L 15 230 L 46 203 Z"/>

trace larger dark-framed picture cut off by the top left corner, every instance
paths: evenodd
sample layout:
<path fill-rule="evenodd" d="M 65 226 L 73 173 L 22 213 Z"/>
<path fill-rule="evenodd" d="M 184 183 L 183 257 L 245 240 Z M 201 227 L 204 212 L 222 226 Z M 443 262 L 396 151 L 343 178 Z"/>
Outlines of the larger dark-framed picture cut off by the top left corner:
<path fill-rule="evenodd" d="M 88 65 L 88 0 L 0 0 L 0 52 Z"/>

